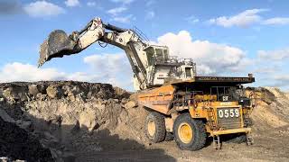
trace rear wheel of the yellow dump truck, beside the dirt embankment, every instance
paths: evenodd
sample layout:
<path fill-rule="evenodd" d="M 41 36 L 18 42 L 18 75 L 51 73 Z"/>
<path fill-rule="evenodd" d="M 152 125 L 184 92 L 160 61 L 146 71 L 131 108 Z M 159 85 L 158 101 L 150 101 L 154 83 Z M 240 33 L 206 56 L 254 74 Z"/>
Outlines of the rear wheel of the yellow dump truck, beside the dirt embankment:
<path fill-rule="evenodd" d="M 145 120 L 145 134 L 152 142 L 157 143 L 165 138 L 164 116 L 159 112 L 150 112 Z"/>

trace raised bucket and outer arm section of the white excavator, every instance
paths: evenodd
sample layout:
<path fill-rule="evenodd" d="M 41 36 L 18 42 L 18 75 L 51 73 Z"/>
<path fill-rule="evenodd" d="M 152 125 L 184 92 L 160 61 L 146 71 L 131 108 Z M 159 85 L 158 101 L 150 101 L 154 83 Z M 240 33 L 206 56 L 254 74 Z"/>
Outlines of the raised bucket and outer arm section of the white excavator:
<path fill-rule="evenodd" d="M 52 31 L 40 47 L 38 66 L 41 67 L 51 58 L 62 58 L 64 55 L 77 54 L 99 40 L 104 28 L 99 18 L 93 19 L 81 31 L 73 31 L 69 36 L 65 31 Z"/>

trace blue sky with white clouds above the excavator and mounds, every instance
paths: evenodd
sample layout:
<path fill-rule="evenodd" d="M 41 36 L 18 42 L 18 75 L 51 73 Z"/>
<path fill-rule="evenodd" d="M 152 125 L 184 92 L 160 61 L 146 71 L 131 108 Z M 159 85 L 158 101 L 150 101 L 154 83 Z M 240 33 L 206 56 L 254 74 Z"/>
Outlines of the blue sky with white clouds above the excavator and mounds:
<path fill-rule="evenodd" d="M 201 75 L 247 76 L 289 90 L 289 2 L 285 0 L 0 0 L 0 82 L 73 79 L 132 90 L 124 51 L 98 43 L 37 68 L 48 34 L 70 33 L 94 17 L 143 31 L 171 55 L 194 58 Z"/>

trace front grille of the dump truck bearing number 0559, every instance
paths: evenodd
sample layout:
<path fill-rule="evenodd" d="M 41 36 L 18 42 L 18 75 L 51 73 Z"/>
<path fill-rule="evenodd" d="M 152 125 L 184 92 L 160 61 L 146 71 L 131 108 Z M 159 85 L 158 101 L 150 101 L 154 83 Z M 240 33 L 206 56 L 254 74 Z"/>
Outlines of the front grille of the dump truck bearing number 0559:
<path fill-rule="evenodd" d="M 241 128 L 241 114 L 238 107 L 218 108 L 218 125 L 224 130 Z"/>

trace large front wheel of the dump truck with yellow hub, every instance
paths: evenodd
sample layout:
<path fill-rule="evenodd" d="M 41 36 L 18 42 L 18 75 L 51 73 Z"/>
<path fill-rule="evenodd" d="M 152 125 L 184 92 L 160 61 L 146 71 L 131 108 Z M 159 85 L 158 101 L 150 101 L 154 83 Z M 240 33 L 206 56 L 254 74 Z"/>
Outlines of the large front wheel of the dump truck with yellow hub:
<path fill-rule="evenodd" d="M 173 124 L 174 140 L 181 149 L 199 150 L 206 143 L 205 124 L 191 119 L 189 113 L 179 115 Z"/>

